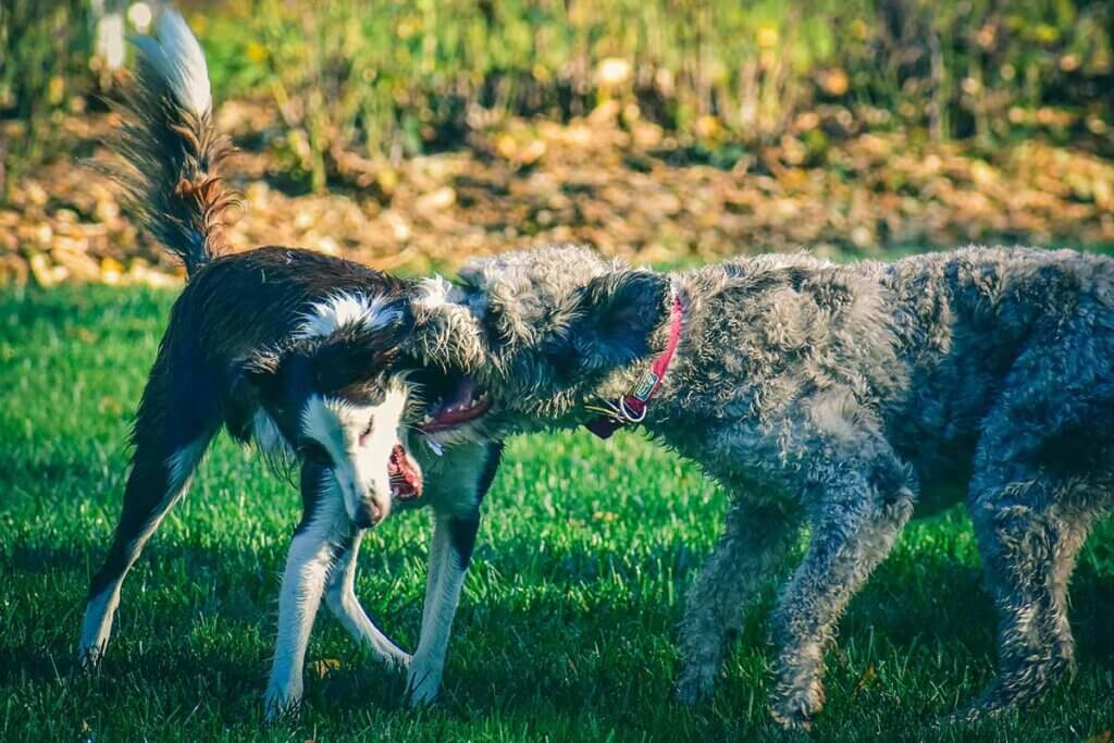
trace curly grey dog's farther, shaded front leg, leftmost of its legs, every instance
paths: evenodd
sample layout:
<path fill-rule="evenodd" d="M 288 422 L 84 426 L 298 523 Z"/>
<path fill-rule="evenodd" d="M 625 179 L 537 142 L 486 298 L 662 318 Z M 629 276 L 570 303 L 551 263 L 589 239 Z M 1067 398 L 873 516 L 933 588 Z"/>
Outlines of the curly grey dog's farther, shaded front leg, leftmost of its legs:
<path fill-rule="evenodd" d="M 684 669 L 677 701 L 694 704 L 712 692 L 727 644 L 742 632 L 746 608 L 783 565 L 797 538 L 793 515 L 774 506 L 731 505 L 726 528 L 712 557 L 688 589 L 681 623 Z"/>

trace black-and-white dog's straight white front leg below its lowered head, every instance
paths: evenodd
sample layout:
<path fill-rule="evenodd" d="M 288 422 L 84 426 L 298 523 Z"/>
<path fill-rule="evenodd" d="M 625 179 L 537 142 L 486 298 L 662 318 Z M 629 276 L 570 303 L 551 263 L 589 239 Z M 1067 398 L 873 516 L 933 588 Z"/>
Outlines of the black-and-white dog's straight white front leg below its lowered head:
<path fill-rule="evenodd" d="M 306 465 L 302 469 L 302 522 L 286 554 L 286 569 L 278 595 L 278 636 L 267 683 L 268 720 L 293 711 L 302 698 L 302 669 L 313 619 L 336 556 L 352 538 L 344 502 L 332 475 Z"/>

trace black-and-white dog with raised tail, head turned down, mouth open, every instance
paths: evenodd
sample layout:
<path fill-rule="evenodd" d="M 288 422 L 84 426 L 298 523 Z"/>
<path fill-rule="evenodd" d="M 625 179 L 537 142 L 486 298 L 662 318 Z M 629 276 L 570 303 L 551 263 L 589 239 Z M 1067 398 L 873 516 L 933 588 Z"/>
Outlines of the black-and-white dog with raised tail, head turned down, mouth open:
<path fill-rule="evenodd" d="M 233 199 L 217 166 L 229 147 L 213 126 L 204 55 L 174 12 L 159 18 L 157 38 L 136 43 L 136 80 L 117 141 L 124 164 L 115 175 L 144 227 L 185 263 L 189 281 L 136 414 L 123 512 L 92 578 L 79 657 L 88 664 L 104 654 L 125 575 L 223 424 L 236 440 L 301 465 L 304 512 L 282 580 L 268 715 L 301 697 L 322 598 L 380 658 L 409 665 L 413 698 L 427 701 L 440 683 L 498 447 L 426 452 L 421 465 L 408 453 L 403 416 L 413 404 L 412 382 L 399 349 L 411 324 L 412 284 L 300 250 L 221 256 L 222 215 Z M 482 413 L 482 403 L 453 404 L 458 389 L 449 380 L 413 375 L 424 375 L 434 394 L 448 390 L 439 405 L 447 420 Z M 428 485 L 419 500 L 422 469 Z M 433 508 L 434 530 L 411 661 L 360 606 L 355 555 L 362 529 L 392 507 L 424 504 Z"/>

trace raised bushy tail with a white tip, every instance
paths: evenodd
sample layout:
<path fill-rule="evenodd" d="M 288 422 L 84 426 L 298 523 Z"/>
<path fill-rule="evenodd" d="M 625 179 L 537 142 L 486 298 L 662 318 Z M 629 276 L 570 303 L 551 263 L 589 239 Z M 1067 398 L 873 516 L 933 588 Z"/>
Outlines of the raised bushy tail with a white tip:
<path fill-rule="evenodd" d="M 232 147 L 216 134 L 205 55 L 182 16 L 163 12 L 154 36 L 133 41 L 139 53 L 111 175 L 144 228 L 192 276 L 224 250 L 223 218 L 236 196 L 218 167 Z"/>

